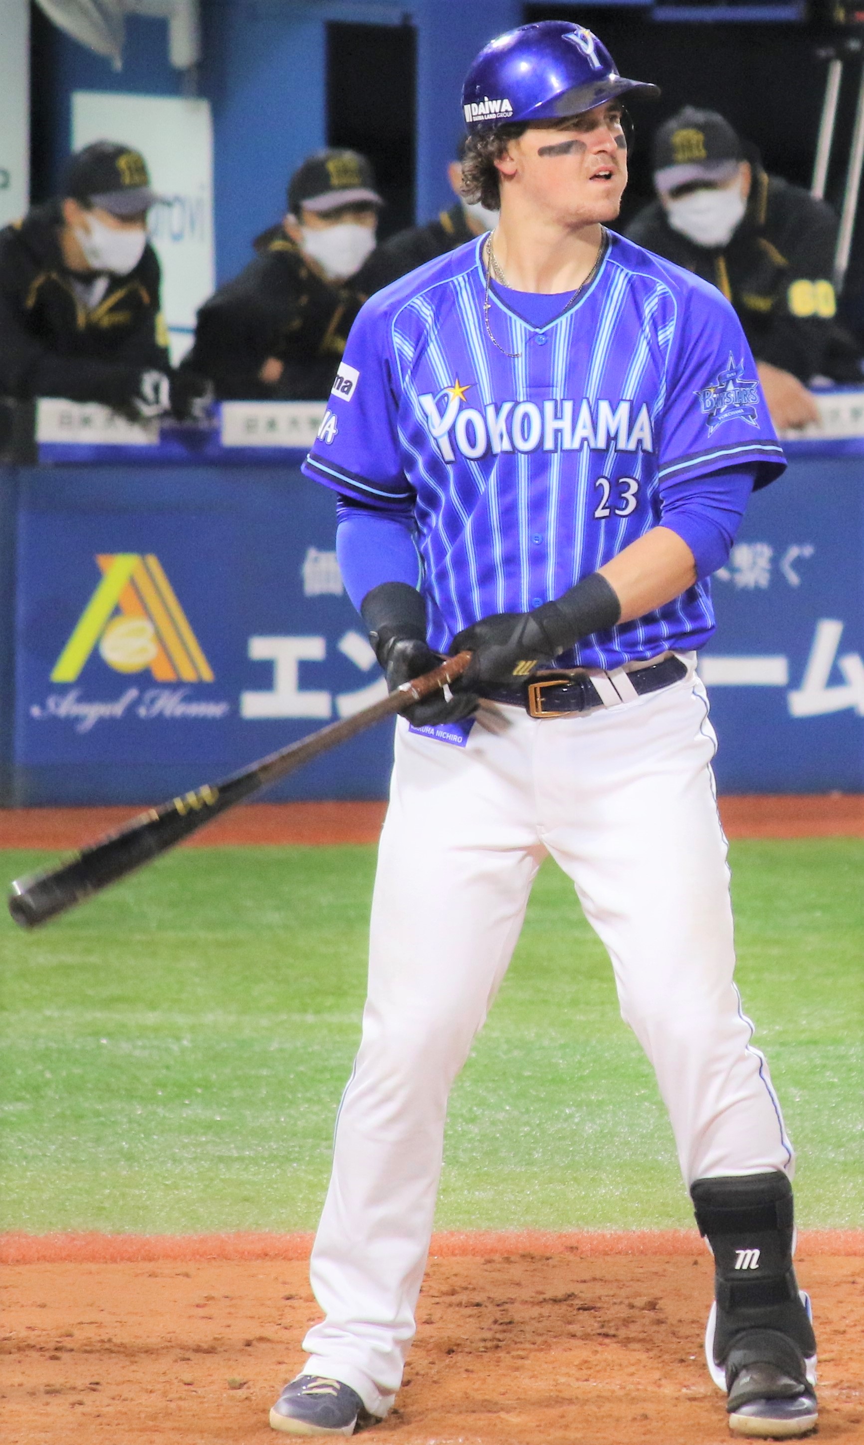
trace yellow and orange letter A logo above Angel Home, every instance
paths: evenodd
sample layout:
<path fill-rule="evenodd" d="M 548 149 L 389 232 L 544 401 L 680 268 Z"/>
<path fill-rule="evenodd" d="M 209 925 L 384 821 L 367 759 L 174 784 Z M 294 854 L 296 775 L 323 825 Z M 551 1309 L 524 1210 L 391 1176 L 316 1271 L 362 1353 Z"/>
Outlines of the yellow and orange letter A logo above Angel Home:
<path fill-rule="evenodd" d="M 61 652 L 52 682 L 75 682 L 98 646 L 114 672 L 150 669 L 157 682 L 212 682 L 212 669 L 159 558 L 152 552 L 97 556 L 103 579 Z"/>

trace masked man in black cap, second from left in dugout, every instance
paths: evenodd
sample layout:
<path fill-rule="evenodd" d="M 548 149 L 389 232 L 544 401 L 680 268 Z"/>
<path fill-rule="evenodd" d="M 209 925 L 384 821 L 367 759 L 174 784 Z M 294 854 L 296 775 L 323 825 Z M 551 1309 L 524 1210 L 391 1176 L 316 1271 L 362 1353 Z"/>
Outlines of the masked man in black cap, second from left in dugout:
<path fill-rule="evenodd" d="M 290 178 L 288 214 L 256 240 L 256 259 L 198 312 L 183 366 L 225 400 L 325 397 L 368 295 L 357 273 L 381 205 L 366 156 L 309 156 Z"/>

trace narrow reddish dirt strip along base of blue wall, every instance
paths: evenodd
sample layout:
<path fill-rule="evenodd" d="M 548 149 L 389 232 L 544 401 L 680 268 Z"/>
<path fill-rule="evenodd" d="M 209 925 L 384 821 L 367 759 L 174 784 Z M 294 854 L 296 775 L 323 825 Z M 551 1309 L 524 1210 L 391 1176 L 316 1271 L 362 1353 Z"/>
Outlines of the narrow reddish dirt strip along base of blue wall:
<path fill-rule="evenodd" d="M 183 847 L 377 842 L 384 803 L 247 803 Z M 4 808 L 0 848 L 79 848 L 134 816 L 133 808 Z M 864 838 L 864 793 L 721 798 L 730 838 Z"/>

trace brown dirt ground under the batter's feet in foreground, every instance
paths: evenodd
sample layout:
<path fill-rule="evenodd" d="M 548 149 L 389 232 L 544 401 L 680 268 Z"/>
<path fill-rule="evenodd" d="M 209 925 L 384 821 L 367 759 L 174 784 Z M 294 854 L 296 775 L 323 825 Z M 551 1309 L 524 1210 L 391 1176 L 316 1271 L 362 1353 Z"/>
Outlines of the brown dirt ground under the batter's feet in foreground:
<path fill-rule="evenodd" d="M 267 1410 L 318 1316 L 296 1257 L 308 1238 L 269 1259 L 254 1237 L 214 1238 L 247 1253 L 183 1257 L 191 1241 L 175 1241 L 162 1260 L 7 1264 L 4 1445 L 277 1439 Z M 860 1243 L 805 1234 L 798 1251 L 821 1334 L 819 1438 L 850 1445 L 864 1436 L 864 1260 L 826 1248 Z M 722 1445 L 709 1300 L 711 1260 L 683 1231 L 436 1237 L 406 1381 L 370 1445 Z"/>

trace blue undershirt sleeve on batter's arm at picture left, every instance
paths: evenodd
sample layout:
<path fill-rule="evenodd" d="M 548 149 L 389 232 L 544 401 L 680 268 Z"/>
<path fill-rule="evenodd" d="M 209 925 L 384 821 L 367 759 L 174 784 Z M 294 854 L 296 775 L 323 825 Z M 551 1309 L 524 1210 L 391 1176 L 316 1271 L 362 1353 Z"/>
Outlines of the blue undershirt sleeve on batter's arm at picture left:
<path fill-rule="evenodd" d="M 415 529 L 410 509 L 379 512 L 353 497 L 338 497 L 337 561 L 345 591 L 357 611 L 366 594 L 381 582 L 420 585 L 422 565 Z"/>

